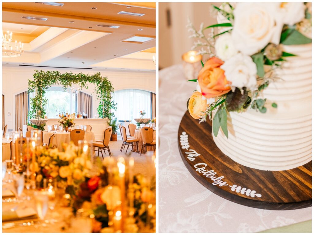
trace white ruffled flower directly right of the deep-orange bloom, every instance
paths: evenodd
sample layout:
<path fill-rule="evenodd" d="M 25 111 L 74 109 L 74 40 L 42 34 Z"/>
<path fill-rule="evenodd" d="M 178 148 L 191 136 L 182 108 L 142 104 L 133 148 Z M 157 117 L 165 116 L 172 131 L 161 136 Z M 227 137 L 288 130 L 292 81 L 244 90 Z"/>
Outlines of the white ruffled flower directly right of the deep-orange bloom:
<path fill-rule="evenodd" d="M 225 70 L 226 79 L 231 82 L 231 86 L 254 89 L 257 84 L 257 67 L 250 56 L 238 53 L 220 68 Z"/>

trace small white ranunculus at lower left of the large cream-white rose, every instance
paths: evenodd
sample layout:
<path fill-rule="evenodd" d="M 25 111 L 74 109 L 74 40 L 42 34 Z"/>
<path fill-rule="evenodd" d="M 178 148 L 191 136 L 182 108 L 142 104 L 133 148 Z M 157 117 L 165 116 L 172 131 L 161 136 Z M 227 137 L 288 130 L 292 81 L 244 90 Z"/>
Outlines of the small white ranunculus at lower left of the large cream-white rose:
<path fill-rule="evenodd" d="M 215 42 L 216 55 L 223 61 L 230 59 L 238 52 L 233 44 L 230 33 L 225 33 Z"/>

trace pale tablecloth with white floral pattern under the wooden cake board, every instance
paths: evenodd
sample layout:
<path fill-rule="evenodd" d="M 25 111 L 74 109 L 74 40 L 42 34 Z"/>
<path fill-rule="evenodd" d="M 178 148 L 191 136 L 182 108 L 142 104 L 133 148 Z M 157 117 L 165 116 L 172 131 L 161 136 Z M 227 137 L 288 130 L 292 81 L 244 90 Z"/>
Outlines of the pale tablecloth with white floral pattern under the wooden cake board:
<path fill-rule="evenodd" d="M 182 71 L 174 65 L 159 72 L 159 232 L 259 232 L 310 220 L 311 207 L 255 209 L 223 199 L 194 179 L 177 144 L 187 100 L 196 89 Z"/>

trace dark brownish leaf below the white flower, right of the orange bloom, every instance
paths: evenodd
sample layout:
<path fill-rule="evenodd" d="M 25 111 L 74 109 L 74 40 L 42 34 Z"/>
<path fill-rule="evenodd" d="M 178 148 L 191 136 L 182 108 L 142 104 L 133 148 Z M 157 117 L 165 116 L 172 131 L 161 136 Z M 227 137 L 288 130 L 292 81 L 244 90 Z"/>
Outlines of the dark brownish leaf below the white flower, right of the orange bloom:
<path fill-rule="evenodd" d="M 226 108 L 229 112 L 240 110 L 247 101 L 247 90 L 243 88 L 243 94 L 241 90 L 236 88 L 234 92 L 230 91 L 226 97 Z"/>

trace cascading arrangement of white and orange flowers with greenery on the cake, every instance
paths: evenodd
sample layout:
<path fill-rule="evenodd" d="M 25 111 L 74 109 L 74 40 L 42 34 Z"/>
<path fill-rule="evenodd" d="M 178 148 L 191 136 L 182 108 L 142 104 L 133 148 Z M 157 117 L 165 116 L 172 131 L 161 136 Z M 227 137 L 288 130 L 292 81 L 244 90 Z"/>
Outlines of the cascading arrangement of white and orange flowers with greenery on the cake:
<path fill-rule="evenodd" d="M 192 50 L 201 47 L 198 53 L 210 57 L 205 64 L 201 61 L 198 79 L 189 80 L 198 84 L 187 106 L 200 123 L 207 117 L 213 120 L 216 137 L 221 127 L 228 138 L 227 112 L 252 108 L 265 113 L 267 107 L 277 108 L 262 98 L 262 91 L 278 79 L 276 69 L 286 58 L 297 56 L 285 52 L 283 45 L 312 42 L 311 4 L 223 3 L 213 9 L 218 24 L 201 24 L 200 30 L 190 21 L 187 25 L 190 37 L 198 38 Z M 208 37 L 205 30 L 210 30 Z"/>

